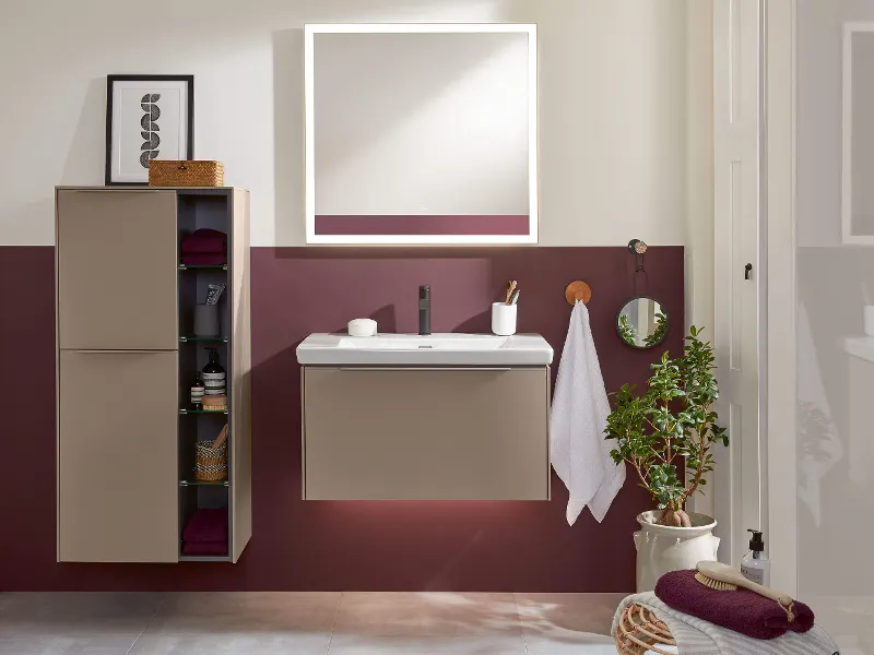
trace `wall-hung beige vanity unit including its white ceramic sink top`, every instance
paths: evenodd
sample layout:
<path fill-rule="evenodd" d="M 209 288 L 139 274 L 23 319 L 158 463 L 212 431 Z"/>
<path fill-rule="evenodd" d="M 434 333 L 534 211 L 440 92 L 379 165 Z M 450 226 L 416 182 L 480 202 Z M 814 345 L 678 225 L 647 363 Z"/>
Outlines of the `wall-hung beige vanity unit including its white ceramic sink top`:
<path fill-rule="evenodd" d="M 548 500 L 540 335 L 312 334 L 302 365 L 307 500 Z"/>

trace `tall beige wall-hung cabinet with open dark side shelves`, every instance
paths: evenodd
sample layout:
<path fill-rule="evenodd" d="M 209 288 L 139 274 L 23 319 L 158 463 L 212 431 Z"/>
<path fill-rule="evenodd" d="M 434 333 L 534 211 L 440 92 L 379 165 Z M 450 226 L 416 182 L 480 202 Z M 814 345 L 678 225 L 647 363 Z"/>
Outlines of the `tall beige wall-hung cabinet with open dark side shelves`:
<path fill-rule="evenodd" d="M 182 263 L 181 239 L 227 234 L 226 264 Z M 249 193 L 234 188 L 58 188 L 58 561 L 234 561 L 251 536 Z M 217 336 L 194 307 L 226 284 Z M 227 410 L 190 386 L 216 348 Z M 196 444 L 228 426 L 226 480 L 198 481 Z M 227 512 L 224 553 L 186 556 L 198 510 Z"/>

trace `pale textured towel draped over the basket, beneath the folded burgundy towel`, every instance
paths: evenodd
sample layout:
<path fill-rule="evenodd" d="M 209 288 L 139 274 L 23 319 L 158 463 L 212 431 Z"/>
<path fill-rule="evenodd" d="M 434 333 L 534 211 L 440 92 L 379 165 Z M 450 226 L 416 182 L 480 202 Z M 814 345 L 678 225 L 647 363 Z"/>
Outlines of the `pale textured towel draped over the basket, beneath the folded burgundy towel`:
<path fill-rule="evenodd" d="M 819 626 L 814 626 L 803 634 L 787 632 L 782 636 L 763 641 L 672 609 L 659 600 L 652 592 L 628 596 L 619 604 L 613 618 L 613 632 L 618 628 L 622 612 L 635 603 L 651 610 L 664 621 L 676 641 L 678 652 L 688 655 L 837 655 L 838 653 L 838 646 Z"/>

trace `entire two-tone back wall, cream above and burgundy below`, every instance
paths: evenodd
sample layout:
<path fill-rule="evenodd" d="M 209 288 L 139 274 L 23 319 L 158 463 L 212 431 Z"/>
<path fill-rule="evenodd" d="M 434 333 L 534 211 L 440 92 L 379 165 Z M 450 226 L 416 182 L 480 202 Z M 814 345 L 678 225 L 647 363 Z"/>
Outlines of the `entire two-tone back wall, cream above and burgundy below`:
<path fill-rule="evenodd" d="M 647 255 L 651 290 L 675 318 L 666 347 L 680 348 L 685 310 L 711 325 L 709 3 L 154 0 L 144 17 L 115 0 L 32 0 L 2 11 L 2 116 L 14 129 L 0 157 L 0 590 L 634 587 L 630 533 L 650 503 L 631 476 L 604 524 L 584 513 L 572 528 L 557 480 L 548 503 L 300 501 L 294 347 L 353 314 L 415 330 L 423 283 L 435 330 L 487 331 L 484 308 L 513 276 L 520 329 L 543 333 L 557 364 L 560 294 L 582 278 L 607 388 L 640 382 L 656 354 L 624 347 L 611 324 L 630 293 L 631 237 L 674 246 Z M 302 26 L 361 21 L 538 23 L 541 247 L 296 248 Z M 236 567 L 55 562 L 52 187 L 103 182 L 107 73 L 193 73 L 196 154 L 252 191 L 255 537 Z"/>

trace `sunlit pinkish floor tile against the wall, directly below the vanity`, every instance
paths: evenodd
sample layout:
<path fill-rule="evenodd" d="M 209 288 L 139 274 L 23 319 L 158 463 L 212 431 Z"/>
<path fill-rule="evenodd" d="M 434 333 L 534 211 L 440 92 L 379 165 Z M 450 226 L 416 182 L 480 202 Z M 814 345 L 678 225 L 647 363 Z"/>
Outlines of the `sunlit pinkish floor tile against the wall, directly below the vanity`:
<path fill-rule="evenodd" d="M 341 635 L 520 635 L 512 594 L 343 594 L 334 633 Z"/>

